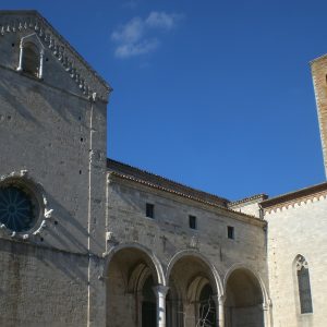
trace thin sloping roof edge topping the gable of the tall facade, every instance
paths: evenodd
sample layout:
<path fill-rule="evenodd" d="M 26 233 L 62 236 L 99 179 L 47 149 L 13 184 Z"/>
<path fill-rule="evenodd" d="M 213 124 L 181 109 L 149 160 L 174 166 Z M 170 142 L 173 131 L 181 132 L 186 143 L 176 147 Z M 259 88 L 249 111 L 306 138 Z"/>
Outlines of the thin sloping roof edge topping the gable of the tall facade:
<path fill-rule="evenodd" d="M 71 50 L 71 52 L 81 60 L 81 62 L 89 70 L 89 72 L 99 81 L 99 83 L 108 90 L 110 94 L 113 89 L 109 83 L 107 83 L 101 75 L 95 71 L 92 65 L 78 53 L 78 51 L 49 23 L 49 21 L 43 16 L 37 10 L 0 10 L 0 15 L 16 15 L 16 14 L 33 14 L 37 16 L 41 22 L 46 23 L 52 33 L 58 36 L 58 38 Z"/>

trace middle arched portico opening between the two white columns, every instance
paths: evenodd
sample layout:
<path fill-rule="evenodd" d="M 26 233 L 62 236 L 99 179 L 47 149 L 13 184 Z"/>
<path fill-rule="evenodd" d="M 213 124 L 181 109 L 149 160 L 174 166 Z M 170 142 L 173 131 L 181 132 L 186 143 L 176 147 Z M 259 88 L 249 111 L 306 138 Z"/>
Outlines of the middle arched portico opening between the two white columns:
<path fill-rule="evenodd" d="M 175 314 L 167 319 L 167 327 L 217 327 L 216 279 L 202 258 L 193 255 L 179 258 L 168 281 L 175 291 L 167 301 L 175 303 Z"/>

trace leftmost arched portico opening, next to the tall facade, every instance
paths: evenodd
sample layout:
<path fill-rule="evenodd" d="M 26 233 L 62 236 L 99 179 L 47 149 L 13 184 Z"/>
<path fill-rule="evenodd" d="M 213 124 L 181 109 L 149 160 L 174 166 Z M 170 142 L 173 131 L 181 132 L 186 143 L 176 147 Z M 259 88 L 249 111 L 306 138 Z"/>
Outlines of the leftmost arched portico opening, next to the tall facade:
<path fill-rule="evenodd" d="M 117 251 L 107 271 L 107 327 L 156 327 L 157 267 L 144 251 Z"/>

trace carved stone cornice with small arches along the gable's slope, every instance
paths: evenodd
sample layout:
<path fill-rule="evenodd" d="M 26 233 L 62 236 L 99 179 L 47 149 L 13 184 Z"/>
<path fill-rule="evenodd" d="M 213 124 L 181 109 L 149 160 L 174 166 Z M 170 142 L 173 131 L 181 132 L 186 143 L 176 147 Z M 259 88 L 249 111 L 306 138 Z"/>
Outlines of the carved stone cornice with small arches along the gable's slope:
<path fill-rule="evenodd" d="M 107 101 L 112 88 L 37 11 L 0 11 L 0 37 L 22 31 L 37 34 L 85 96 Z"/>

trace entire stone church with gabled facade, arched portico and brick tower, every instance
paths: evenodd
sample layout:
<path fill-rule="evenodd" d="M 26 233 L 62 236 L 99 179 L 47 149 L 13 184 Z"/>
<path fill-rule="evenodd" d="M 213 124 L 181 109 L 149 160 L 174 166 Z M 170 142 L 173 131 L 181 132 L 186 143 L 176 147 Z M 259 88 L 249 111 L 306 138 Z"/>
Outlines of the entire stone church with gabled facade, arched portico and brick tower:
<path fill-rule="evenodd" d="M 327 183 L 231 202 L 108 159 L 111 87 L 35 11 L 0 11 L 0 326 L 327 325 Z"/>

